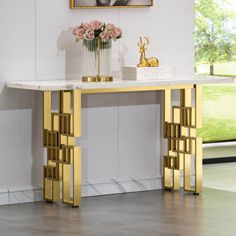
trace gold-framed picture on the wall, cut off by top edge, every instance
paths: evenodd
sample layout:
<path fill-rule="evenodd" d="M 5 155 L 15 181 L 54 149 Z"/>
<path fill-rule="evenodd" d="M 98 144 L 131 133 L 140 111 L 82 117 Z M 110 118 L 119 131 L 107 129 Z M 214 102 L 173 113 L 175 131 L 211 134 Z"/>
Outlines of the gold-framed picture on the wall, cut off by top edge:
<path fill-rule="evenodd" d="M 70 8 L 150 7 L 153 0 L 70 0 Z"/>

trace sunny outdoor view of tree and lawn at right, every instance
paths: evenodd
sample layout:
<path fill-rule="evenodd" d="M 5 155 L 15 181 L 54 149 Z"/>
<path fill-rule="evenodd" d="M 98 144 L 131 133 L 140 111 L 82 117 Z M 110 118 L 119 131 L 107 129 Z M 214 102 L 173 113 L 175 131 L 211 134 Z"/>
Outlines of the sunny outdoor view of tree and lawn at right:
<path fill-rule="evenodd" d="M 230 1 L 196 0 L 196 72 L 236 76 L 236 11 Z M 204 142 L 236 140 L 236 85 L 203 86 Z"/>

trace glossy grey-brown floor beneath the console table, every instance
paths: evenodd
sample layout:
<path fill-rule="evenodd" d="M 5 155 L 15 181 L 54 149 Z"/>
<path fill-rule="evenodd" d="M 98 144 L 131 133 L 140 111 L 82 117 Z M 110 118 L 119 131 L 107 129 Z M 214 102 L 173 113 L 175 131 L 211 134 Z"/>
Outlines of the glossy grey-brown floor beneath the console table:
<path fill-rule="evenodd" d="M 0 236 L 235 236 L 236 164 L 204 166 L 199 196 L 149 191 L 0 207 Z"/>

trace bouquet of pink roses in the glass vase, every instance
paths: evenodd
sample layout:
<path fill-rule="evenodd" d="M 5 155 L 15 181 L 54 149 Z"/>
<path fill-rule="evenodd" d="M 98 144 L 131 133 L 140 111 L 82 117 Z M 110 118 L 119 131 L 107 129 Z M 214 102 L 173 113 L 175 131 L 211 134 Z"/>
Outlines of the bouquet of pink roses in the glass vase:
<path fill-rule="evenodd" d="M 87 23 L 81 23 L 81 25 L 75 27 L 73 29 L 73 35 L 75 35 L 76 41 L 83 40 L 85 45 L 88 45 L 89 41 L 99 39 L 101 40 L 103 47 L 110 47 L 110 41 L 121 38 L 122 31 L 119 27 L 113 24 L 106 24 L 94 20 Z"/>

